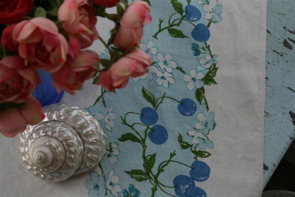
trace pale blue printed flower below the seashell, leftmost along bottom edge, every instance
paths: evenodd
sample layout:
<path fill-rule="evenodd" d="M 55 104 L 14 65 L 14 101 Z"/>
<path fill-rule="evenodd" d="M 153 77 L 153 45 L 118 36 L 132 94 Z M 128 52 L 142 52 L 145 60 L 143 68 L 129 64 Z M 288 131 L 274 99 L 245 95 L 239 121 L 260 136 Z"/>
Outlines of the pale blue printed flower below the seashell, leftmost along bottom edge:
<path fill-rule="evenodd" d="M 90 178 L 86 179 L 85 187 L 89 189 L 89 197 L 103 197 L 99 194 L 105 194 L 106 190 L 104 188 L 105 182 L 103 175 L 99 175 L 96 171 L 89 173 Z"/>

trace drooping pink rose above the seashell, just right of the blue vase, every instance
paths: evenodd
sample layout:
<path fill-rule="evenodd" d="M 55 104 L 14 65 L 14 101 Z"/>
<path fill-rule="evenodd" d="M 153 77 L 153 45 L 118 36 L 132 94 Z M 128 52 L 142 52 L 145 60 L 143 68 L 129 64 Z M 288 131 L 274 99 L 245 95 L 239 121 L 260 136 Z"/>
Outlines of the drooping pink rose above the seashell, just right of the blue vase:
<path fill-rule="evenodd" d="M 99 58 L 94 51 L 80 51 L 75 59 L 69 58 L 62 68 L 52 74 L 53 84 L 74 95 L 75 90 L 82 90 L 85 80 L 93 77 L 99 68 Z"/>

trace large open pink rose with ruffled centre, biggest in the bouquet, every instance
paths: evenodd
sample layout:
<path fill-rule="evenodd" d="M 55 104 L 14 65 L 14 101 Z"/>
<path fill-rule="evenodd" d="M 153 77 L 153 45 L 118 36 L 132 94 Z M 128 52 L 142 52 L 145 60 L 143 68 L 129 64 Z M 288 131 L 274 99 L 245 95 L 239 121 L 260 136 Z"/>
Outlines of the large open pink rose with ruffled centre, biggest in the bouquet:
<path fill-rule="evenodd" d="M 68 46 L 54 22 L 36 17 L 18 23 L 12 32 L 12 39 L 18 44 L 19 56 L 25 63 L 44 69 L 57 71 L 66 61 Z"/>

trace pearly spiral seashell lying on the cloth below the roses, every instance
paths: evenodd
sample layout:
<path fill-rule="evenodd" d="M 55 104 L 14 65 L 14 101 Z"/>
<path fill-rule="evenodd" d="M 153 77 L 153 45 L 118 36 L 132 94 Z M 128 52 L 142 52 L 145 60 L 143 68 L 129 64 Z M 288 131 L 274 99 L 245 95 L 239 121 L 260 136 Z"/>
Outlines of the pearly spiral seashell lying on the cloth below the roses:
<path fill-rule="evenodd" d="M 89 171 L 102 159 L 105 136 L 86 111 L 67 104 L 43 108 L 45 119 L 21 133 L 19 149 L 26 168 L 48 181 Z"/>

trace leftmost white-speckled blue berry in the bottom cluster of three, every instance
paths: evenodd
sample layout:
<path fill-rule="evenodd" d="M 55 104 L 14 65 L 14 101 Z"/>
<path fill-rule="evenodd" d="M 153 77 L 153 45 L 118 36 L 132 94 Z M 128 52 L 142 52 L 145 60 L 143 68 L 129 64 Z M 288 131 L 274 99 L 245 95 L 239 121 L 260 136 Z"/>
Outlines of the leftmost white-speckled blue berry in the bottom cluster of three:
<path fill-rule="evenodd" d="M 174 191 L 178 197 L 184 197 L 185 191 L 195 186 L 194 180 L 191 177 L 185 175 L 178 175 L 173 179 Z"/>

